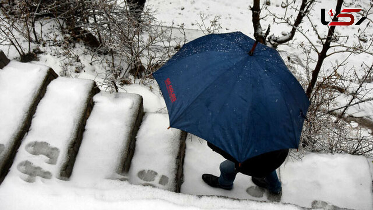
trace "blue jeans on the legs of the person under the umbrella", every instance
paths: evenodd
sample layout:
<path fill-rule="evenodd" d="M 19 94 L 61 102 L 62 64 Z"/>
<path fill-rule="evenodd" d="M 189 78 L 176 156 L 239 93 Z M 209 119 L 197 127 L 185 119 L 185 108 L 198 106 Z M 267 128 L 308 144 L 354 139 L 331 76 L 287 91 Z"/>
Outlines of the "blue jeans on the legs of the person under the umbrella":
<path fill-rule="evenodd" d="M 238 172 L 235 169 L 235 164 L 232 161 L 225 160 L 220 163 L 220 186 L 226 189 L 232 189 L 233 181 L 235 180 L 237 173 Z M 265 178 L 268 182 L 268 190 L 270 192 L 279 192 L 281 190 L 281 183 L 277 177 L 276 170 L 267 175 Z"/>

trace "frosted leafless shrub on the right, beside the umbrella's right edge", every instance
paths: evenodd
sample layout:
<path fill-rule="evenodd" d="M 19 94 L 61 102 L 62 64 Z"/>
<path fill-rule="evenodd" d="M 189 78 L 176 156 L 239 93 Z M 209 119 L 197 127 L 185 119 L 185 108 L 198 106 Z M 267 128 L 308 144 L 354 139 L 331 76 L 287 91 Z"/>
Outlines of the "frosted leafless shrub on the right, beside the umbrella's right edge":
<path fill-rule="evenodd" d="M 373 137 L 368 133 L 373 127 L 362 123 L 359 126 L 356 123 L 358 121 L 348 114 L 350 107 L 373 100 L 369 97 L 372 89 L 365 83 L 373 66 L 367 67 L 364 64 L 358 74 L 355 68 L 343 68 L 346 61 L 347 59 L 335 65 L 333 70 L 323 75 L 323 80 L 317 83 L 300 145 L 306 151 L 373 157 Z M 361 76 L 361 72 L 364 75 Z"/>

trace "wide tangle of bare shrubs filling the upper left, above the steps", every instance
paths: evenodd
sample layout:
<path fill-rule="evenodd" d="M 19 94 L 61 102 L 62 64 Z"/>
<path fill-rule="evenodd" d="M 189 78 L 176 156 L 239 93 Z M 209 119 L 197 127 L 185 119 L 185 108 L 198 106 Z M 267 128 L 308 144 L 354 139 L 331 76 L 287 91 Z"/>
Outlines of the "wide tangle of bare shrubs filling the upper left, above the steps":
<path fill-rule="evenodd" d="M 71 76 L 84 68 L 78 53 L 72 50 L 76 42 L 82 41 L 91 47 L 91 52 L 88 52 L 92 55 L 91 63 L 97 61 L 99 64 L 96 65 L 106 70 L 103 84 L 115 91 L 122 84 L 147 83 L 152 78 L 151 73 L 186 40 L 184 26 L 179 26 L 184 33 L 184 43 L 180 39 L 177 42 L 173 27 L 163 27 L 154 18 L 153 11 L 134 5 L 135 1 L 131 0 L 17 0 L 14 3 L 19 8 L 12 7 L 12 12 L 7 12 L 13 18 L 8 25 L 15 25 L 15 30 L 22 32 L 29 43 L 53 47 L 54 54 L 62 58 L 62 75 Z M 25 25 L 16 25 L 14 20 L 19 16 L 27 17 Z M 45 34 L 47 38 L 43 40 L 43 25 L 40 22 L 38 33 L 35 23 L 38 20 L 44 22 L 45 18 L 50 19 L 48 22 L 55 22 L 60 34 Z M 23 56 L 27 52 L 21 43 L 17 43 L 16 35 L 9 35 L 11 27 L 4 28 L 2 35 Z"/>

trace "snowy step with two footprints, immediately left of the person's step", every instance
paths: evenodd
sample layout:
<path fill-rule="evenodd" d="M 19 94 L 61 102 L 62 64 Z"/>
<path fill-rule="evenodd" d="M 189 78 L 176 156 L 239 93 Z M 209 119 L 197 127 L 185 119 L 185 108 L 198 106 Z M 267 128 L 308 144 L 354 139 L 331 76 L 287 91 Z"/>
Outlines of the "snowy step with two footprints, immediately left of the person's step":
<path fill-rule="evenodd" d="M 167 114 L 146 113 L 136 137 L 129 182 L 180 192 L 186 133 L 168 129 Z"/>

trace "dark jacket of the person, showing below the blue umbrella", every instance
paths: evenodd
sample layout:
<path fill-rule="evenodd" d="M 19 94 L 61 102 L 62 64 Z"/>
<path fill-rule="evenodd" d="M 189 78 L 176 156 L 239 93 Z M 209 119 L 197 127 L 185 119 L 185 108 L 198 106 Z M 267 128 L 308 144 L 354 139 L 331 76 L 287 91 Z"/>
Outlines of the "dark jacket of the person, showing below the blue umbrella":
<path fill-rule="evenodd" d="M 281 166 L 289 153 L 289 149 L 280 149 L 257 155 L 239 164 L 235 158 L 212 143 L 207 142 L 207 146 L 209 146 L 213 151 L 222 155 L 227 160 L 234 162 L 237 172 L 254 177 L 264 177 L 269 175 L 271 172 Z"/>

